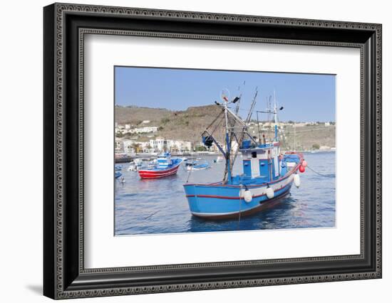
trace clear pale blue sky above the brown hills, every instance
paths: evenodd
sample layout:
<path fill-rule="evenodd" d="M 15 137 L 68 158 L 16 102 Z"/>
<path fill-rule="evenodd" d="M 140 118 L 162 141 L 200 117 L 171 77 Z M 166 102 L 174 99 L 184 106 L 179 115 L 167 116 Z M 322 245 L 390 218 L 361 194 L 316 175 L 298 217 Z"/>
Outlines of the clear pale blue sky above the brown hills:
<path fill-rule="evenodd" d="M 115 105 L 186 110 L 219 102 L 227 89 L 231 99 L 242 93 L 245 116 L 258 87 L 257 110 L 275 91 L 281 121 L 325 122 L 335 121 L 335 84 L 335 75 L 116 66 Z"/>

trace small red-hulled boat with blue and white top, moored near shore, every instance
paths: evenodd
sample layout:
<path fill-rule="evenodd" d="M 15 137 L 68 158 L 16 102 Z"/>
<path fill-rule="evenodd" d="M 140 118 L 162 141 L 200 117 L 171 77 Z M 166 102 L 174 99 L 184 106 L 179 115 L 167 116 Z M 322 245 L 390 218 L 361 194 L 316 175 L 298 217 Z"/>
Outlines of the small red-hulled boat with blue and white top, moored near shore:
<path fill-rule="evenodd" d="M 158 179 L 166 176 L 172 176 L 177 174 L 177 170 L 180 167 L 182 159 L 173 158 L 168 152 L 160 154 L 158 156 L 158 163 L 156 166 L 148 169 L 139 169 L 138 173 L 142 179 Z"/>

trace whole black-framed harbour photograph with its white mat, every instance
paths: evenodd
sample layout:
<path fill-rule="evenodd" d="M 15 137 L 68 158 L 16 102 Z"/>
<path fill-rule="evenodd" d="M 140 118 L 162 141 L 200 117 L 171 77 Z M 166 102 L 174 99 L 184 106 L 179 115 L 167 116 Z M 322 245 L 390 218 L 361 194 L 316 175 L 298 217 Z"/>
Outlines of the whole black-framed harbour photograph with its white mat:
<path fill-rule="evenodd" d="M 47 297 L 381 278 L 381 24 L 43 21 Z"/>

